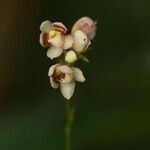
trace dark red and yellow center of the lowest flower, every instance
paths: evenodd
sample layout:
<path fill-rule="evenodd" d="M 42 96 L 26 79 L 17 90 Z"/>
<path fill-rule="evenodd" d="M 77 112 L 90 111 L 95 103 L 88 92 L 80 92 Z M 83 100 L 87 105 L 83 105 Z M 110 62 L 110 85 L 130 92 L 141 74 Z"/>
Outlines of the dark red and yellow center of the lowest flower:
<path fill-rule="evenodd" d="M 59 83 L 62 79 L 65 78 L 65 73 L 56 68 L 54 73 L 52 74 L 52 78 L 56 83 Z"/>

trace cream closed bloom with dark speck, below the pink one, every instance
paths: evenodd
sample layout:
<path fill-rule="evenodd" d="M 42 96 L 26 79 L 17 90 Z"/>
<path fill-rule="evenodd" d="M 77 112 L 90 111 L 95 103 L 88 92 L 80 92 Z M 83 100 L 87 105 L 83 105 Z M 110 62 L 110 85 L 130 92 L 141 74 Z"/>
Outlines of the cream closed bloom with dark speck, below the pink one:
<path fill-rule="evenodd" d="M 88 37 L 87 37 L 87 35 L 84 32 L 82 32 L 80 30 L 77 30 L 73 34 L 73 39 L 74 39 L 73 49 L 76 52 L 81 53 L 86 48 L 86 45 L 88 44 Z"/>

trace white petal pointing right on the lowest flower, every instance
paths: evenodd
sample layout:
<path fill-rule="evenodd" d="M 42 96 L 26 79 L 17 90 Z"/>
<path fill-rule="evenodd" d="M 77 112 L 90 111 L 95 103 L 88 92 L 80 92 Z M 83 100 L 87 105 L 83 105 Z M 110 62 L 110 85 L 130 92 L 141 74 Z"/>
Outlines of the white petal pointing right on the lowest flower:
<path fill-rule="evenodd" d="M 74 80 L 76 80 L 78 82 L 84 82 L 85 77 L 84 77 L 82 71 L 76 67 L 72 67 L 72 69 L 73 69 L 73 74 L 74 74 Z"/>

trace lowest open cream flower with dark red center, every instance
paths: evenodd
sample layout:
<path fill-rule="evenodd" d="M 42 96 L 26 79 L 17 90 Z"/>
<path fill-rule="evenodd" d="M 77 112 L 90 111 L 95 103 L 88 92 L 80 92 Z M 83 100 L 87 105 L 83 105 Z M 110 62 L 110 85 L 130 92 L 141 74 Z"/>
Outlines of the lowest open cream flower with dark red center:
<path fill-rule="evenodd" d="M 66 99 L 70 99 L 75 90 L 75 81 L 84 82 L 85 78 L 79 68 L 55 64 L 50 67 L 48 76 L 53 88 L 58 88 Z"/>

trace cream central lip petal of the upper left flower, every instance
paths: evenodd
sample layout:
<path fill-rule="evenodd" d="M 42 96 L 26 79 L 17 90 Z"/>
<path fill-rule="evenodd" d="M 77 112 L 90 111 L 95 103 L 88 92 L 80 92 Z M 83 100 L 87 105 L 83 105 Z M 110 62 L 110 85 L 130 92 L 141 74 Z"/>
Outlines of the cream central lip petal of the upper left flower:
<path fill-rule="evenodd" d="M 60 33 L 48 40 L 54 47 L 62 47 L 64 45 L 64 38 Z"/>

